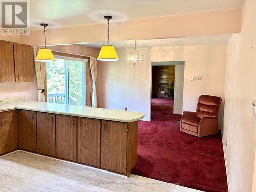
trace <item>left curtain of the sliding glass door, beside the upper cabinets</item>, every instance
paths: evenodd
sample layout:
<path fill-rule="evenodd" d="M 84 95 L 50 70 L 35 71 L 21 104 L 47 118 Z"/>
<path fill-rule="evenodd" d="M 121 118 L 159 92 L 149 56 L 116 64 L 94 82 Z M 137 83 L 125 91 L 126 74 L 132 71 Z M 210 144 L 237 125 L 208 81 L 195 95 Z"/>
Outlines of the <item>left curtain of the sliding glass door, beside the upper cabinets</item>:
<path fill-rule="evenodd" d="M 34 61 L 36 55 L 40 48 L 34 47 Z M 46 73 L 46 62 L 38 62 L 35 61 L 35 73 L 37 79 L 37 89 L 38 89 L 38 101 L 45 102 L 45 90 L 44 90 L 44 83 L 45 83 L 45 73 Z"/>

